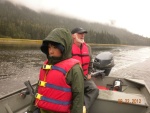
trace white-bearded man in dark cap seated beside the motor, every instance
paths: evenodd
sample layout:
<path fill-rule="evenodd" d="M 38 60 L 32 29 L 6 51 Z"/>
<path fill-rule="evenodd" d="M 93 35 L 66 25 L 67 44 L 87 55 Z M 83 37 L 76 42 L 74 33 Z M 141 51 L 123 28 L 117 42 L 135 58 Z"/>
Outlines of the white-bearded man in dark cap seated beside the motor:
<path fill-rule="evenodd" d="M 72 45 L 72 58 L 80 61 L 84 73 L 84 102 L 86 113 L 89 112 L 90 107 L 99 95 L 99 90 L 93 80 L 91 79 L 92 71 L 92 52 L 91 47 L 84 41 L 85 34 L 87 33 L 81 27 L 74 28 L 72 31 L 73 45 Z"/>

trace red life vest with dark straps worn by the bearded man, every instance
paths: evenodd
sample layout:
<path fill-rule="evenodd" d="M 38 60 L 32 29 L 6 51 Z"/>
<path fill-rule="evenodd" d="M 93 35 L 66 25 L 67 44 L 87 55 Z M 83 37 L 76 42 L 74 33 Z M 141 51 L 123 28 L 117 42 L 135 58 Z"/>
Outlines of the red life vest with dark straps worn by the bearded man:
<path fill-rule="evenodd" d="M 72 45 L 72 58 L 75 58 L 80 61 L 84 75 L 87 75 L 90 63 L 90 56 L 86 43 L 82 44 L 81 49 L 76 44 Z"/>

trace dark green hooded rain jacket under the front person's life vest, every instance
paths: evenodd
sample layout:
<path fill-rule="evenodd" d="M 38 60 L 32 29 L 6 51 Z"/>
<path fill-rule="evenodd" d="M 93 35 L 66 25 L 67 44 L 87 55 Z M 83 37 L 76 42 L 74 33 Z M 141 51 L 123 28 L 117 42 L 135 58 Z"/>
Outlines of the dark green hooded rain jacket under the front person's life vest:
<path fill-rule="evenodd" d="M 63 45 L 64 51 L 62 57 L 54 58 L 48 56 L 49 42 L 56 42 Z M 64 28 L 56 28 L 53 31 L 51 31 L 50 34 L 43 40 L 43 44 L 41 46 L 41 51 L 47 55 L 49 64 L 55 64 L 61 62 L 62 60 L 71 58 L 72 57 L 71 50 L 72 50 L 71 33 L 69 30 Z M 76 64 L 68 72 L 66 82 L 71 86 L 73 95 L 71 113 L 82 113 L 84 104 L 84 75 L 79 64 Z M 35 108 L 33 104 L 34 98 L 31 101 L 31 106 L 28 109 L 28 113 L 33 113 L 33 109 Z M 55 113 L 52 111 L 46 111 L 42 109 L 40 109 L 40 111 L 41 113 Z"/>

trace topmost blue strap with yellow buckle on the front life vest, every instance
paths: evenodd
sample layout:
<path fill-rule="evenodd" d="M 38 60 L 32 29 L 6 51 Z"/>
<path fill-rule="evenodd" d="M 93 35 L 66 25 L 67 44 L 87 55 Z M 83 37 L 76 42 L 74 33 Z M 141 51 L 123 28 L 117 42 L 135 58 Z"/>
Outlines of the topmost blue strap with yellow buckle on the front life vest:
<path fill-rule="evenodd" d="M 45 69 L 45 70 L 50 70 L 50 69 L 58 70 L 58 71 L 62 72 L 64 75 L 66 75 L 66 73 L 67 73 L 66 70 L 64 70 L 61 67 L 55 66 L 55 65 L 43 65 L 42 69 Z"/>

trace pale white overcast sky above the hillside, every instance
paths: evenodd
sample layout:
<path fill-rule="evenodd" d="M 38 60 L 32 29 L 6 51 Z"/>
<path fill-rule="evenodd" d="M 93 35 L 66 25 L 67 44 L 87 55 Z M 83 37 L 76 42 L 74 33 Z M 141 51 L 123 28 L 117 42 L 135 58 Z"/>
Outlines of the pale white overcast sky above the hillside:
<path fill-rule="evenodd" d="M 9 0 L 49 11 L 125 28 L 150 38 L 150 0 Z"/>

